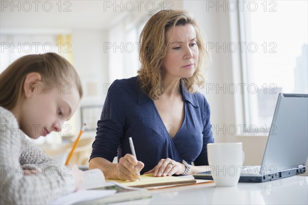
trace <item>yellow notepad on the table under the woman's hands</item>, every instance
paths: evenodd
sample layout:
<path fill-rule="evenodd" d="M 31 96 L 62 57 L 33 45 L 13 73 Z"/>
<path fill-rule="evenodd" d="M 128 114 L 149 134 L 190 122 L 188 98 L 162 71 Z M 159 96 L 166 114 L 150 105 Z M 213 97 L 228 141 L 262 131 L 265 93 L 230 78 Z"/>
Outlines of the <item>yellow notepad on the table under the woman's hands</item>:
<path fill-rule="evenodd" d="M 157 187 L 162 185 L 173 185 L 173 184 L 188 184 L 196 183 L 194 179 L 187 179 L 182 177 L 153 177 L 152 174 L 141 175 L 140 181 L 122 181 L 122 180 L 106 180 L 106 181 L 116 181 L 127 187 L 137 187 L 137 188 L 146 188 L 146 187 Z"/>

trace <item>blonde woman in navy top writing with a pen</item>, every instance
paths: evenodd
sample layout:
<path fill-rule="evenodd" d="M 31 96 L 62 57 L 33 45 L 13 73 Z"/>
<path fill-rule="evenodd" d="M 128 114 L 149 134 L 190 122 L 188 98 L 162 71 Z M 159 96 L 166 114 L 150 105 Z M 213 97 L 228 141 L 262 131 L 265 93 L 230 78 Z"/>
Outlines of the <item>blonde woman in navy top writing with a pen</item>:
<path fill-rule="evenodd" d="M 194 88 L 204 84 L 208 60 L 196 21 L 187 11 L 162 10 L 146 23 L 140 42 L 138 76 L 108 90 L 89 168 L 122 180 L 138 179 L 139 171 L 156 177 L 205 171 L 206 145 L 214 139 L 209 105 Z M 119 163 L 112 163 L 117 154 Z"/>

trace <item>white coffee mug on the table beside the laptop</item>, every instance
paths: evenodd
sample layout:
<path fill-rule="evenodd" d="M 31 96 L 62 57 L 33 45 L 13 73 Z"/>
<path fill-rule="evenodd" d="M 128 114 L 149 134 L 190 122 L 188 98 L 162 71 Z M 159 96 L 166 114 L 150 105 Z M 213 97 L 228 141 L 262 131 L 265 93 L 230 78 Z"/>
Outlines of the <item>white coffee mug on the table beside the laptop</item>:
<path fill-rule="evenodd" d="M 238 184 L 244 162 L 242 142 L 207 144 L 209 171 L 220 187 Z"/>

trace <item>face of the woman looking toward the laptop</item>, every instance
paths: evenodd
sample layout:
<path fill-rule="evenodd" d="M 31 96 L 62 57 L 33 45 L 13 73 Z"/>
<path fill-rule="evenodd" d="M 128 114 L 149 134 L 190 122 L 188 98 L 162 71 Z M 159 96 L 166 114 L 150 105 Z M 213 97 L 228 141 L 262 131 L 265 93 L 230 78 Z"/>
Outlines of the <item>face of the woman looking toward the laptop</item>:
<path fill-rule="evenodd" d="M 172 28 L 169 28 L 165 33 L 167 53 L 163 62 L 164 77 L 189 78 L 194 74 L 199 58 L 195 28 L 187 24 L 176 26 L 172 36 L 171 32 Z"/>

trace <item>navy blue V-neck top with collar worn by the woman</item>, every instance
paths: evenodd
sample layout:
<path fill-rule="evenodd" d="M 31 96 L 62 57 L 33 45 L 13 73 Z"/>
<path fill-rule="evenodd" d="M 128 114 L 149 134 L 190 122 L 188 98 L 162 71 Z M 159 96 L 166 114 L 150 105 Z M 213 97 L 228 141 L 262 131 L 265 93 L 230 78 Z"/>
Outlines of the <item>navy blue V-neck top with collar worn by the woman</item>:
<path fill-rule="evenodd" d="M 108 89 L 90 160 L 102 157 L 112 162 L 117 155 L 119 160 L 131 154 L 128 141 L 131 137 L 137 159 L 145 164 L 141 174 L 167 157 L 208 165 L 206 144 L 214 142 L 209 105 L 199 92 L 188 92 L 184 82 L 181 81 L 180 87 L 185 116 L 171 139 L 168 134 L 171 127 L 165 127 L 153 100 L 141 91 L 138 77 L 115 80 Z"/>

